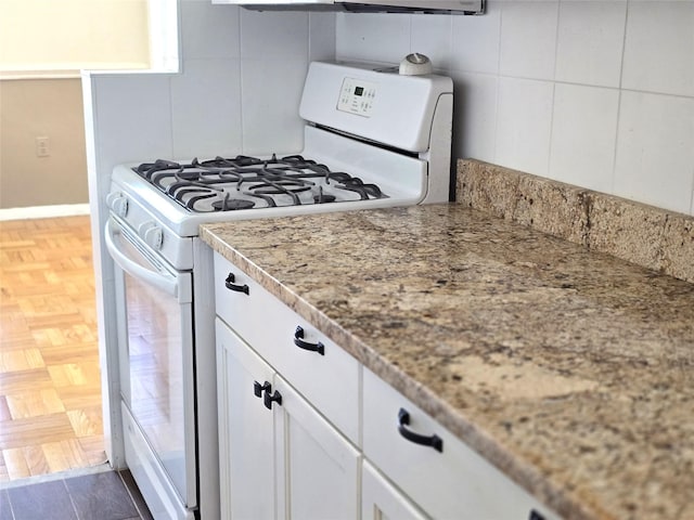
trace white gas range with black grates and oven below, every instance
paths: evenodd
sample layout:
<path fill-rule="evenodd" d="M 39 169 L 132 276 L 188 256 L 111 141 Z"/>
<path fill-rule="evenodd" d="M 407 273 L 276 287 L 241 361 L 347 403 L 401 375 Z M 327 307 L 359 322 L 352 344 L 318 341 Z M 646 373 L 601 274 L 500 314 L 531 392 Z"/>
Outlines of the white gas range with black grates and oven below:
<path fill-rule="evenodd" d="M 125 453 L 155 518 L 218 516 L 211 257 L 200 224 L 448 200 L 452 81 L 399 72 L 311 63 L 298 153 L 114 169 L 105 242 Z"/>

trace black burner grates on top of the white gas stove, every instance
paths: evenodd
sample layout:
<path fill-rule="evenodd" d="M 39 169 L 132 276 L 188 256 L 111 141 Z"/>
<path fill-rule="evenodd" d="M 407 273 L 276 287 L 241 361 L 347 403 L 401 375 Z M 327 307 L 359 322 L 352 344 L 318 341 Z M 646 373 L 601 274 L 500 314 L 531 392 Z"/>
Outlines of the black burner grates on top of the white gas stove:
<path fill-rule="evenodd" d="M 133 171 L 193 212 L 387 198 L 377 185 L 300 155 L 195 158 L 190 164 L 157 159 Z"/>

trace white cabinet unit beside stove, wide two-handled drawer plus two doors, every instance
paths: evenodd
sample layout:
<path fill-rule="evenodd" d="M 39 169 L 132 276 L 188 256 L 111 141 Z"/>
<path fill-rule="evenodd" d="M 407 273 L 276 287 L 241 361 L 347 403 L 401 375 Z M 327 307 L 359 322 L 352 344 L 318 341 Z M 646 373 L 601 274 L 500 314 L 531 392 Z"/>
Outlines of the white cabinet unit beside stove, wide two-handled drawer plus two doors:
<path fill-rule="evenodd" d="M 222 518 L 357 518 L 359 364 L 215 262 Z"/>

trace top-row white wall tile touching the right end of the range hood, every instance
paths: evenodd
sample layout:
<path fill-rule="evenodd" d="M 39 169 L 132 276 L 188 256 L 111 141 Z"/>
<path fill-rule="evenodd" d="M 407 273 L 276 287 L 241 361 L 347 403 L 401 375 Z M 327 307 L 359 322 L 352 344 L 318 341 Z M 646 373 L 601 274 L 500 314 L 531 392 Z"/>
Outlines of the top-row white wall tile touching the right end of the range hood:
<path fill-rule="evenodd" d="M 501 6 L 487 3 L 483 16 L 453 16 L 451 68 L 465 73 L 499 73 Z"/>

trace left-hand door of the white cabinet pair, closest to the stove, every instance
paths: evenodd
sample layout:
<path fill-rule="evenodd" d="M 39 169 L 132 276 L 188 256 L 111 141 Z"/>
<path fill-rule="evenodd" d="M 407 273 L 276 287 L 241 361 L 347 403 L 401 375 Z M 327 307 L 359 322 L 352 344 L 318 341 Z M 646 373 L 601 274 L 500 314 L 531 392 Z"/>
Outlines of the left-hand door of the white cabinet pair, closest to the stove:
<path fill-rule="evenodd" d="M 216 332 L 222 518 L 270 520 L 277 518 L 273 418 L 255 389 L 270 384 L 273 370 L 220 320 Z"/>

